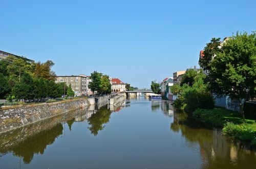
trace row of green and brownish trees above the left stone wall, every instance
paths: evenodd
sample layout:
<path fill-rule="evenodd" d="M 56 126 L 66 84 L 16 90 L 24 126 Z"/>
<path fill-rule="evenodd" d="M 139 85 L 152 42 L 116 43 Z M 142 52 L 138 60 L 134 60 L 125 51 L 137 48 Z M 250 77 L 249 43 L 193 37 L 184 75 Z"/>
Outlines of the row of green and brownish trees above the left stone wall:
<path fill-rule="evenodd" d="M 32 100 L 67 94 L 64 88 L 68 91 L 69 87 L 54 81 L 53 65 L 51 60 L 29 64 L 14 56 L 0 60 L 0 98 Z"/>

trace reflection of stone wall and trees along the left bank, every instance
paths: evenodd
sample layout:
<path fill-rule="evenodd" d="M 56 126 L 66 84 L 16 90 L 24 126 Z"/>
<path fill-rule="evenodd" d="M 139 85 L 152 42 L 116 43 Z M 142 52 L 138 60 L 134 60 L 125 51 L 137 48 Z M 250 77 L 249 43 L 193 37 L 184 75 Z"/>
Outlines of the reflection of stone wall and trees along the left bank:
<path fill-rule="evenodd" d="M 69 130 L 75 122 L 88 120 L 88 128 L 93 135 L 103 130 L 104 124 L 110 120 L 112 112 L 118 112 L 124 104 L 118 104 L 113 110 L 109 104 L 91 105 L 86 109 L 77 109 L 46 120 L 42 120 L 23 128 L 18 128 L 0 134 L 0 160 L 1 156 L 12 153 L 14 156 L 23 158 L 28 164 L 34 154 L 44 154 L 47 145 L 52 144 L 56 138 L 65 133 L 63 124 L 67 123 Z"/>

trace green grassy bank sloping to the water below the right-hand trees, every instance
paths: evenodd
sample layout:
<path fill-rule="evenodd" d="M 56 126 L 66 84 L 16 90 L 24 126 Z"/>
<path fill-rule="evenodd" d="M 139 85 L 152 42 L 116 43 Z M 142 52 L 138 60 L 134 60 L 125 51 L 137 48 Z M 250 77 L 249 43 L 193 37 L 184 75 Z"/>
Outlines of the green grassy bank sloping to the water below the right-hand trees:
<path fill-rule="evenodd" d="M 205 124 L 223 128 L 224 135 L 256 145 L 255 119 L 245 119 L 243 123 L 242 116 L 238 112 L 219 107 L 209 110 L 198 109 L 193 113 L 193 117 Z"/>

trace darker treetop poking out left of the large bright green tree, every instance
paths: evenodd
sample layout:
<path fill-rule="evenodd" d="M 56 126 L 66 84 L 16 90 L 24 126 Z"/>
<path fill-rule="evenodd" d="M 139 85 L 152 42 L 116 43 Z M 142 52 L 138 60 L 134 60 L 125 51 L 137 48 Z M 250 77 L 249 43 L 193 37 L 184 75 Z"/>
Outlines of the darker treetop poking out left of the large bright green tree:
<path fill-rule="evenodd" d="M 204 48 L 204 56 L 199 59 L 199 65 L 204 70 L 210 70 L 211 60 L 221 51 L 221 48 L 219 48 L 221 44 L 220 39 L 221 38 L 212 38 L 210 42 L 206 44 L 206 47 Z"/>

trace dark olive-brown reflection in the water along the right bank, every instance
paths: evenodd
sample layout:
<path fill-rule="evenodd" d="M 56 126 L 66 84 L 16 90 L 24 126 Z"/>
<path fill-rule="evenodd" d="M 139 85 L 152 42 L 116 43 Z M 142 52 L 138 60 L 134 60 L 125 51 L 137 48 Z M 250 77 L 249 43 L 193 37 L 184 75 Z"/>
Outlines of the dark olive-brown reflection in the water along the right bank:
<path fill-rule="evenodd" d="M 250 161 L 256 159 L 256 152 L 250 151 L 249 147 L 231 143 L 220 130 L 205 129 L 185 113 L 174 113 L 170 129 L 180 132 L 186 138 L 185 144 L 189 148 L 194 149 L 199 144 L 202 168 L 229 168 L 230 165 L 235 168 L 251 168 Z"/>

